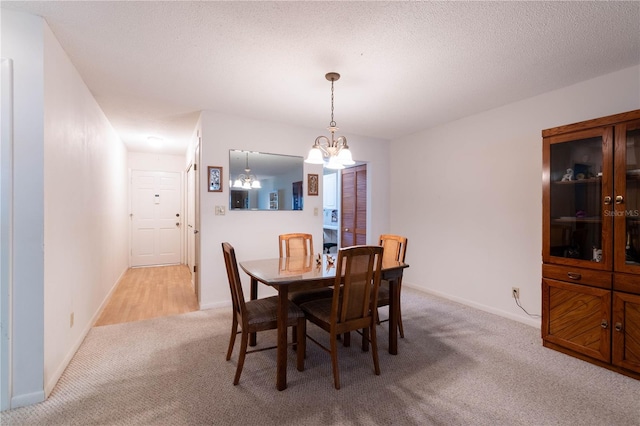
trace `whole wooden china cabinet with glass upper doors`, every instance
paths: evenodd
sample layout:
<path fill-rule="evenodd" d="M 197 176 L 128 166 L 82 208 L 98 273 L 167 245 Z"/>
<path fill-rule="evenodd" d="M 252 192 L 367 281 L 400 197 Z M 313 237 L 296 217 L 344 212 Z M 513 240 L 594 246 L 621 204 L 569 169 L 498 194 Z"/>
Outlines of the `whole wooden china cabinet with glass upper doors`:
<path fill-rule="evenodd" d="M 640 110 L 542 137 L 543 344 L 640 379 Z"/>

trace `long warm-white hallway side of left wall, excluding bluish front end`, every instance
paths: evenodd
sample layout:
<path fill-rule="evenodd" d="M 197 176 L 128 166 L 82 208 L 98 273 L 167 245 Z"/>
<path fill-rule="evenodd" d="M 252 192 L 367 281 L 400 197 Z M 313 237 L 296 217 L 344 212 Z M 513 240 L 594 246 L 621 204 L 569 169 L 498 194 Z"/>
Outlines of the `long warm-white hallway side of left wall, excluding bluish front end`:
<path fill-rule="evenodd" d="M 44 41 L 49 394 L 128 267 L 129 217 L 126 148 L 47 25 Z"/>

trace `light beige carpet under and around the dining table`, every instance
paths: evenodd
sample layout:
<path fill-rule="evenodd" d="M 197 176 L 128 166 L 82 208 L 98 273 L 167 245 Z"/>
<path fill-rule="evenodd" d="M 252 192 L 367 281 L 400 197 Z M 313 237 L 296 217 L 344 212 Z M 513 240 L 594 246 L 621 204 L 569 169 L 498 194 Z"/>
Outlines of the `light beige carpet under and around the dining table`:
<path fill-rule="evenodd" d="M 370 353 L 290 351 L 275 389 L 275 351 L 247 356 L 238 386 L 225 351 L 230 309 L 91 330 L 50 398 L 0 414 L 2 425 L 640 425 L 640 381 L 543 348 L 540 331 L 403 289 L 405 339 L 382 374 Z M 326 338 L 313 326 L 314 336 Z M 259 341 L 272 343 L 268 332 Z M 236 343 L 238 345 L 238 343 Z"/>

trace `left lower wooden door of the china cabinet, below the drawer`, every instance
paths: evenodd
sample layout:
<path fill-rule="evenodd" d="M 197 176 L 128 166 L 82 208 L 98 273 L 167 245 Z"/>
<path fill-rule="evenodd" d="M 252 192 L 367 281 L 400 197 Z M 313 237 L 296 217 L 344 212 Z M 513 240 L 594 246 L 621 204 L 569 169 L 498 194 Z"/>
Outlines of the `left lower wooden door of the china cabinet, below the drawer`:
<path fill-rule="evenodd" d="M 542 279 L 542 338 L 611 362 L 611 290 Z"/>

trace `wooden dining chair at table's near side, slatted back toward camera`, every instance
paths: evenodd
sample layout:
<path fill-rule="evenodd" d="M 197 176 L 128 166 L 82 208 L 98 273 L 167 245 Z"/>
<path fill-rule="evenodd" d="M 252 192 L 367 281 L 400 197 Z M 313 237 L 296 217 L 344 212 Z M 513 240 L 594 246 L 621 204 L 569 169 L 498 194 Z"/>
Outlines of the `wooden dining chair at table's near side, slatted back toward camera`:
<path fill-rule="evenodd" d="M 314 300 L 300 306 L 309 321 L 329 333 L 329 348 L 313 337 L 309 335 L 307 337 L 331 354 L 336 389 L 340 389 L 338 336 L 350 331 L 362 330 L 363 351 L 367 351 L 371 343 L 374 371 L 376 375 L 380 375 L 376 307 L 382 269 L 382 250 L 380 246 L 353 246 L 340 249 L 332 298 Z"/>

